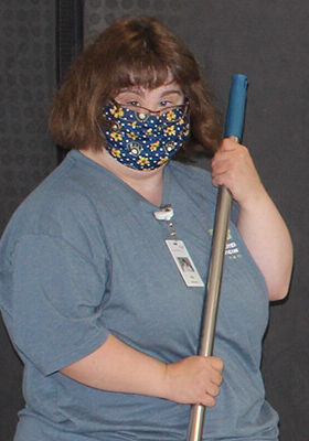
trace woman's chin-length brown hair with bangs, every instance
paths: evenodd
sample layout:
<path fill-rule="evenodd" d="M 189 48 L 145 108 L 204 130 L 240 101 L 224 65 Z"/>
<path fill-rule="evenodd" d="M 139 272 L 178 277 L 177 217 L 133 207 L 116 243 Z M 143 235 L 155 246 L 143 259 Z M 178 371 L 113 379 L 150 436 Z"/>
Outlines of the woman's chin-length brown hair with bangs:
<path fill-rule="evenodd" d="M 50 115 L 54 141 L 68 149 L 102 149 L 102 108 L 125 87 L 156 88 L 171 73 L 190 104 L 191 138 L 212 154 L 221 142 L 219 117 L 192 53 L 153 18 L 122 19 L 102 32 L 72 65 Z"/>

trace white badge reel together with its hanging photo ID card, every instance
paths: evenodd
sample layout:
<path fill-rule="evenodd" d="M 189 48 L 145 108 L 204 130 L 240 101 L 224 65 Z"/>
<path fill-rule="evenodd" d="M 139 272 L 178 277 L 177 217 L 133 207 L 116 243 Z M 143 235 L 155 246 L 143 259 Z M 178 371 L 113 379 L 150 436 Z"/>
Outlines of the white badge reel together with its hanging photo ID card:
<path fill-rule="evenodd" d="M 187 287 L 204 287 L 204 282 L 201 279 L 184 243 L 177 239 L 175 229 L 171 220 L 173 217 L 171 205 L 164 205 L 160 211 L 153 212 L 153 216 L 157 220 L 164 220 L 169 226 L 170 238 L 166 239 L 166 244 Z"/>

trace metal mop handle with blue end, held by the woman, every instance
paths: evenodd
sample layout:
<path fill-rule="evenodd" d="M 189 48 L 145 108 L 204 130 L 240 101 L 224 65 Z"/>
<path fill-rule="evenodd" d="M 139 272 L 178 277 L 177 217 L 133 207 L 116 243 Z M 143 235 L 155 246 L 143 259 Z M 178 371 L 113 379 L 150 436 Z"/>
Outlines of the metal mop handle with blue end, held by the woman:
<path fill-rule="evenodd" d="M 225 121 L 225 138 L 239 142 L 243 133 L 247 77 L 233 75 L 230 88 L 228 107 Z M 206 301 L 203 311 L 203 323 L 199 355 L 213 354 L 216 315 L 222 280 L 226 237 L 230 223 L 232 196 L 225 186 L 220 186 L 216 202 L 216 214 L 213 230 L 213 241 L 210 268 L 206 283 Z M 191 409 L 188 441 L 201 441 L 203 434 L 205 407 L 194 405 Z"/>

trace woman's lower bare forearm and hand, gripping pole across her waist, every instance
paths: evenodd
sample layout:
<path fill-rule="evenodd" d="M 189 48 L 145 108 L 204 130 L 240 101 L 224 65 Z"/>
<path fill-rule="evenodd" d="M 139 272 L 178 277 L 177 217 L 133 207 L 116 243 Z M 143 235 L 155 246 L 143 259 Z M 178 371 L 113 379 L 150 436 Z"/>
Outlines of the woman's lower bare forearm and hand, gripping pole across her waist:
<path fill-rule="evenodd" d="M 216 357 L 191 356 L 166 364 L 109 334 L 97 351 L 61 373 L 102 390 L 212 407 L 220 391 L 222 368 L 223 363 Z"/>

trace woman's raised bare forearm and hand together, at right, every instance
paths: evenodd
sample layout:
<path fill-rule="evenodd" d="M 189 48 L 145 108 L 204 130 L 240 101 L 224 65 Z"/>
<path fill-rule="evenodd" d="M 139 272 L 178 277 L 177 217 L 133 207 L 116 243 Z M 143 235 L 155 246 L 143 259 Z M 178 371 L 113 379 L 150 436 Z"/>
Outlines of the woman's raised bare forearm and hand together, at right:
<path fill-rule="evenodd" d="M 224 139 L 212 160 L 212 178 L 214 185 L 225 185 L 239 204 L 237 228 L 265 278 L 269 299 L 283 299 L 292 266 L 290 235 L 248 150 Z"/>

